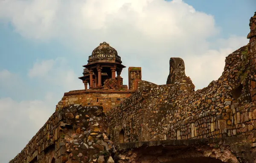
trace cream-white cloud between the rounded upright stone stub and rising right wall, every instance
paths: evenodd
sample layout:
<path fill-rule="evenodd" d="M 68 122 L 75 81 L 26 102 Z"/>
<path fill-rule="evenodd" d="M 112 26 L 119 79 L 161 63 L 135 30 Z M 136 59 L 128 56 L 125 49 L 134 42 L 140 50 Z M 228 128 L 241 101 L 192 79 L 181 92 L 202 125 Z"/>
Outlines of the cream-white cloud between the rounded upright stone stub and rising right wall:
<path fill-rule="evenodd" d="M 248 40 L 244 37 L 232 36 L 229 39 L 220 39 L 216 42 L 218 49 L 208 49 L 201 55 L 187 55 L 186 75 L 190 76 L 196 89 L 202 89 L 212 80 L 217 80 L 224 71 L 225 59 L 236 49 L 244 46 Z"/>

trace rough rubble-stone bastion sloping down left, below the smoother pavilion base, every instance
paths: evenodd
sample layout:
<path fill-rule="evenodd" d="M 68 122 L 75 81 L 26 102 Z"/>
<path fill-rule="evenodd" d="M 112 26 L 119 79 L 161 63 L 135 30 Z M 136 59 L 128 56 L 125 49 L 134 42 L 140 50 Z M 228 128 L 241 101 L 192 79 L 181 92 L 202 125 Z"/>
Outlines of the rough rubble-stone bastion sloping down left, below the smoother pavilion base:
<path fill-rule="evenodd" d="M 107 128 L 101 106 L 59 109 L 10 163 L 113 163 L 116 149 Z"/>

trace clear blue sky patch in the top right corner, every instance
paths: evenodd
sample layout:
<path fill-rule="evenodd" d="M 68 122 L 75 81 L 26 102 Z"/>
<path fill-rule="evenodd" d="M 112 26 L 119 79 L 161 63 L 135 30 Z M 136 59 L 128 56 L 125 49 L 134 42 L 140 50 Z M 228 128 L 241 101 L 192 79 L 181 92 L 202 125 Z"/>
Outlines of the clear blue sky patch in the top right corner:
<path fill-rule="evenodd" d="M 228 38 L 236 34 L 247 36 L 250 17 L 256 11 L 255 0 L 183 0 L 196 10 L 212 14 L 221 36 Z"/>

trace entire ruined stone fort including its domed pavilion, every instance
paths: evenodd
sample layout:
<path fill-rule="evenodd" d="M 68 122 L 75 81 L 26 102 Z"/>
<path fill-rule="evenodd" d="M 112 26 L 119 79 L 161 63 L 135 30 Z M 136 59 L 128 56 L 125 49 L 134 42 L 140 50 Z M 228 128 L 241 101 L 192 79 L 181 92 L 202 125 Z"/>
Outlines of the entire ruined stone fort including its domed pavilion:
<path fill-rule="evenodd" d="M 249 43 L 197 91 L 181 58 L 165 85 L 129 68 L 128 89 L 121 58 L 101 43 L 79 77 L 85 89 L 65 93 L 10 163 L 256 163 L 256 12 L 249 25 Z"/>

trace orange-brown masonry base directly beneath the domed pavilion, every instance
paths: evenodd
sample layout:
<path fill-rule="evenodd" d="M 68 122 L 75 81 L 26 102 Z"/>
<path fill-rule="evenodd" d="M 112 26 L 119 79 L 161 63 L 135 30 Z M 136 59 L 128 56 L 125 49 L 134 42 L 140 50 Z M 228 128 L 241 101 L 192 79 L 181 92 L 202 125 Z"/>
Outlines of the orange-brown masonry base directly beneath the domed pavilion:
<path fill-rule="evenodd" d="M 61 101 L 56 105 L 56 110 L 66 105 L 81 104 L 81 106 L 102 106 L 104 112 L 108 112 L 113 106 L 119 104 L 135 91 L 111 91 L 111 90 L 78 90 L 64 93 Z"/>

